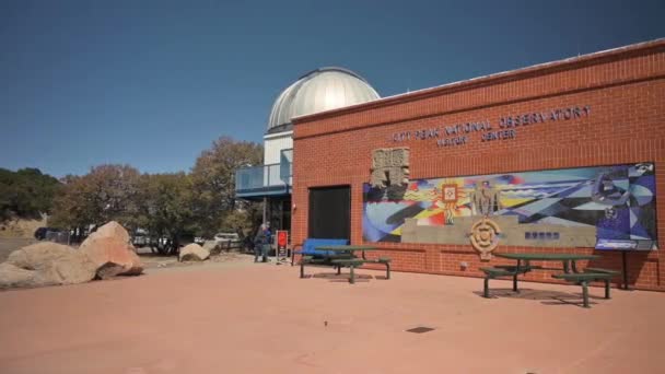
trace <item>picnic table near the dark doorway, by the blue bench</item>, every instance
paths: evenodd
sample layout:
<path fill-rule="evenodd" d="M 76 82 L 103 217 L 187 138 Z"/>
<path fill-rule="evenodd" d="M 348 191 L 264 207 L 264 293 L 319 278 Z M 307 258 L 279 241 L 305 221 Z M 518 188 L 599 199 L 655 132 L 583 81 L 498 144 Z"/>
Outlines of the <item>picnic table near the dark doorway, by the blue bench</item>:
<path fill-rule="evenodd" d="M 300 278 L 305 278 L 305 265 L 331 265 L 337 268 L 337 273 L 341 273 L 341 268 L 349 268 L 349 283 L 355 283 L 354 269 L 364 264 L 382 264 L 386 267 L 386 279 L 390 279 L 390 259 L 378 257 L 369 259 L 368 252 L 378 250 L 377 247 L 368 245 L 322 245 L 316 246 L 316 250 L 323 253 L 315 258 L 314 256 L 303 256 L 300 261 Z M 361 252 L 358 257 L 354 253 Z"/>

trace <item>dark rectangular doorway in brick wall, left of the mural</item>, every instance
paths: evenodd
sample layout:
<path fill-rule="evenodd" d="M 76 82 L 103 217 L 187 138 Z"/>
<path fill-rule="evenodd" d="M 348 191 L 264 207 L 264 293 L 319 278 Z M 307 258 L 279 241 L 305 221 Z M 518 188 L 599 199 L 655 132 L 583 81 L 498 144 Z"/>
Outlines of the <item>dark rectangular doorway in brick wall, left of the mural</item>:
<path fill-rule="evenodd" d="M 313 238 L 351 238 L 351 188 L 310 188 L 310 230 Z"/>

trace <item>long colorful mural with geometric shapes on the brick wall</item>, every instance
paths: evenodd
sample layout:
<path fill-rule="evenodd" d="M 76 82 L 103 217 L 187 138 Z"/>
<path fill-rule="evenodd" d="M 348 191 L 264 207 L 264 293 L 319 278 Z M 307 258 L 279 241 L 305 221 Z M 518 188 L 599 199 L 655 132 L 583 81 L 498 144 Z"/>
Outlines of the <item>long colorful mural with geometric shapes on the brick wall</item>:
<path fill-rule="evenodd" d="M 653 163 L 365 184 L 363 236 L 456 244 L 466 226 L 487 215 L 509 227 L 505 237 L 515 245 L 646 241 L 651 249 L 655 199 Z M 567 236 L 572 242 L 562 242 Z"/>

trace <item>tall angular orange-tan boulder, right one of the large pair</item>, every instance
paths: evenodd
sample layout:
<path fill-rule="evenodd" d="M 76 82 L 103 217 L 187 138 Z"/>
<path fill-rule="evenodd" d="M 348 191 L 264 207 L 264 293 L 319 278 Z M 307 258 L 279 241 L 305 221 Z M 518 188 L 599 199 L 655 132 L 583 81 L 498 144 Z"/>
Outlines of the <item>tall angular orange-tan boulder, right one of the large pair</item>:
<path fill-rule="evenodd" d="M 92 233 L 79 250 L 95 264 L 102 279 L 138 276 L 143 272 L 141 259 L 129 244 L 129 234 L 117 222 L 108 222 Z"/>

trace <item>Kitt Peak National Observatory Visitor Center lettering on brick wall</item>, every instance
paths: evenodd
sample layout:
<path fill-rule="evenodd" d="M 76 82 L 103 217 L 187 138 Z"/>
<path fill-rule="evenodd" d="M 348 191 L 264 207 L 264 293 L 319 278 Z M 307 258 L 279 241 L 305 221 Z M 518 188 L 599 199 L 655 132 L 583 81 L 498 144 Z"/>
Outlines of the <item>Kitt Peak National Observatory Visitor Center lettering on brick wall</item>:
<path fill-rule="evenodd" d="M 524 113 L 499 117 L 494 122 L 489 119 L 465 124 L 441 125 L 429 129 L 408 130 L 393 133 L 394 142 L 411 140 L 436 141 L 439 147 L 464 145 L 472 132 L 480 132 L 480 141 L 515 139 L 521 127 L 545 122 L 575 120 L 591 115 L 591 106 L 571 106 L 544 112 Z"/>

